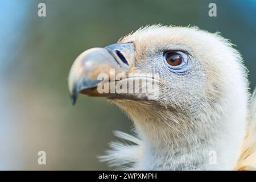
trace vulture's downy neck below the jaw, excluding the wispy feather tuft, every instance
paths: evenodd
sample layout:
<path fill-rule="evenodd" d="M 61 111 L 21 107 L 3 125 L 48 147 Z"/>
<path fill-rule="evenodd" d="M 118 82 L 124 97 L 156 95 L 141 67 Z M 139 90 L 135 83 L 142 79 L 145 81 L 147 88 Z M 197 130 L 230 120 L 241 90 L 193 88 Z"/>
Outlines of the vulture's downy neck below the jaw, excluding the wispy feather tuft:
<path fill-rule="evenodd" d="M 138 169 L 230 170 L 236 166 L 245 136 L 246 103 L 190 118 L 168 109 L 118 105 L 133 119 L 143 142 Z"/>

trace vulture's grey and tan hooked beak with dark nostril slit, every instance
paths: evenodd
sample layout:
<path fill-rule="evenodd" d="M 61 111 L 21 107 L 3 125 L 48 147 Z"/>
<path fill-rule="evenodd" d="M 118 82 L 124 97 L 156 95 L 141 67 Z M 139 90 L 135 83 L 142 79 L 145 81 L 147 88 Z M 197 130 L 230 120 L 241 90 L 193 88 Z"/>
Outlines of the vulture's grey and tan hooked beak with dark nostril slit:
<path fill-rule="evenodd" d="M 133 43 L 117 43 L 82 52 L 74 61 L 68 76 L 72 104 L 76 103 L 79 93 L 104 97 L 104 94 L 97 92 L 97 86 L 101 83 L 98 75 L 105 73 L 110 77 L 111 69 L 115 73 L 127 73 L 133 64 L 134 52 Z"/>

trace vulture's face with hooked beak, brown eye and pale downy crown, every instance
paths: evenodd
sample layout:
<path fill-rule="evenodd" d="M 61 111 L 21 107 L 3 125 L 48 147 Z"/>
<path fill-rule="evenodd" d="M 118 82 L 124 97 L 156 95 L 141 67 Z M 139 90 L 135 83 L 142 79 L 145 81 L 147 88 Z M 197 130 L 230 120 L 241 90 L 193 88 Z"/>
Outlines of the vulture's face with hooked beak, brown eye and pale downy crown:
<path fill-rule="evenodd" d="M 233 58 L 230 44 L 216 34 L 197 28 L 146 27 L 117 44 L 83 52 L 69 73 L 69 91 L 74 101 L 77 93 L 107 97 L 135 118 L 157 117 L 163 110 L 179 118 L 196 118 L 220 104 L 227 93 L 224 85 L 236 79 L 233 72 L 240 69 L 240 63 L 232 62 L 236 60 Z M 97 77 L 100 73 L 111 77 L 110 69 L 125 75 L 122 81 L 146 79 L 140 74 L 151 74 L 147 79 L 158 85 L 157 97 L 149 98 L 147 93 L 99 93 L 96 88 L 102 82 Z M 115 78 L 115 85 L 118 82 Z M 145 114 L 139 114 L 139 110 Z"/>

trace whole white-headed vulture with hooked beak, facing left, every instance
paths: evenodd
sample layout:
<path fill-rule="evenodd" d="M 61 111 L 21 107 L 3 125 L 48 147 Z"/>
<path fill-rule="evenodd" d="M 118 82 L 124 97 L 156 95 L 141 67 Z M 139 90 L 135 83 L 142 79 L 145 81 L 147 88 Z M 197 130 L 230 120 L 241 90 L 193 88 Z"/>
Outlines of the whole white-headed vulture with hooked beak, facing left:
<path fill-rule="evenodd" d="M 123 77 L 112 77 L 113 71 Z M 102 79 L 102 74 L 108 77 Z M 98 89 L 140 79 L 158 89 L 142 82 L 137 87 L 148 86 L 145 93 Z M 71 67 L 68 87 L 73 104 L 79 93 L 105 97 L 133 121 L 134 134 L 115 131 L 122 142 L 110 143 L 110 150 L 100 156 L 112 167 L 256 169 L 255 91 L 249 92 L 240 53 L 218 32 L 139 28 L 110 46 L 82 52 Z M 157 97 L 150 97 L 156 91 Z"/>

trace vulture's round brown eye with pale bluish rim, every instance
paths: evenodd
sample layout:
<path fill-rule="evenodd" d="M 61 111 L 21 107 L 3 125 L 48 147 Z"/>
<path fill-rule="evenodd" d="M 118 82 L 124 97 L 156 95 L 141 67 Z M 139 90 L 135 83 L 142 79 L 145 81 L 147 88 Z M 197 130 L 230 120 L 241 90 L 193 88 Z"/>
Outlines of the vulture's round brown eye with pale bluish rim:
<path fill-rule="evenodd" d="M 169 68 L 181 69 L 188 63 L 187 53 L 181 51 L 167 51 L 164 53 L 164 60 Z"/>

